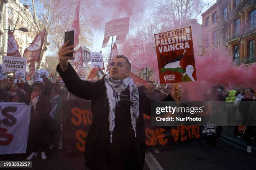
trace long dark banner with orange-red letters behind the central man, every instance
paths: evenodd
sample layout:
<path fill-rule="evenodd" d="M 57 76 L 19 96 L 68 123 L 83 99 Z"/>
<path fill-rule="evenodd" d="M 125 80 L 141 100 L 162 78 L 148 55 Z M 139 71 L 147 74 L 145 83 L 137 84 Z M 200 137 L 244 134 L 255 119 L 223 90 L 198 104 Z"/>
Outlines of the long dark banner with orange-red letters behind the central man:
<path fill-rule="evenodd" d="M 66 153 L 84 153 L 86 137 L 92 124 L 91 101 L 64 101 L 61 116 L 63 145 Z M 185 140 L 204 140 L 199 126 L 152 127 L 150 116 L 144 115 L 147 146 L 174 145 Z"/>

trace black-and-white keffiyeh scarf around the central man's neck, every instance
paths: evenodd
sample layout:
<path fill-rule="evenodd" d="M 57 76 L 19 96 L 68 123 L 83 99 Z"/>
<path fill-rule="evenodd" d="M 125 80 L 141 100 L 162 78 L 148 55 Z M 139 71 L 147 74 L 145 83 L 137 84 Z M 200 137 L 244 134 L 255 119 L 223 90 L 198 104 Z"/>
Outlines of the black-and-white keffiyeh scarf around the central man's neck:
<path fill-rule="evenodd" d="M 124 80 L 113 80 L 109 75 L 106 75 L 104 80 L 109 103 L 108 122 L 110 143 L 112 143 L 112 133 L 115 128 L 115 105 L 120 101 L 121 92 L 123 92 L 127 87 L 129 87 L 131 100 L 131 125 L 136 137 L 136 121 L 139 116 L 139 92 L 136 84 L 133 82 L 131 77 L 126 77 Z"/>

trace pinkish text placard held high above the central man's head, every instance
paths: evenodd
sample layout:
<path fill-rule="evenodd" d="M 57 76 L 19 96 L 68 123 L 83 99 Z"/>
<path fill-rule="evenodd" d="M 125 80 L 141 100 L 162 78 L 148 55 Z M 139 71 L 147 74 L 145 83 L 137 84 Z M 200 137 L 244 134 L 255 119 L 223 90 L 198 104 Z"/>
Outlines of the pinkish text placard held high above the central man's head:
<path fill-rule="evenodd" d="M 129 32 L 130 17 L 116 18 L 108 21 L 105 24 L 104 40 L 102 42 L 102 48 L 108 45 L 110 36 L 117 35 L 116 43 L 125 41 L 126 34 Z"/>

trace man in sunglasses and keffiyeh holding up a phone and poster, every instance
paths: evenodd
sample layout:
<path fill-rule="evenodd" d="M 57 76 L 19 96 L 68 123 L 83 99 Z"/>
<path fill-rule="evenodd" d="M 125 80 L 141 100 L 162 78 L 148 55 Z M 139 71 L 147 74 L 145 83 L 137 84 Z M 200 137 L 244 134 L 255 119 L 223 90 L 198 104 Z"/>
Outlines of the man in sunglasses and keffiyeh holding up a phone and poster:
<path fill-rule="evenodd" d="M 96 82 L 79 78 L 67 55 L 74 46 L 59 50 L 57 71 L 69 92 L 92 101 L 92 124 L 85 142 L 85 166 L 92 170 L 142 170 L 145 158 L 143 113 L 150 115 L 151 100 L 129 77 L 131 64 L 123 55 L 110 63 L 110 74 Z M 180 89 L 168 96 L 179 100 Z"/>

